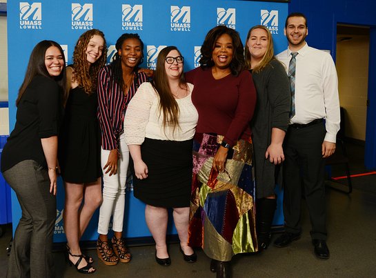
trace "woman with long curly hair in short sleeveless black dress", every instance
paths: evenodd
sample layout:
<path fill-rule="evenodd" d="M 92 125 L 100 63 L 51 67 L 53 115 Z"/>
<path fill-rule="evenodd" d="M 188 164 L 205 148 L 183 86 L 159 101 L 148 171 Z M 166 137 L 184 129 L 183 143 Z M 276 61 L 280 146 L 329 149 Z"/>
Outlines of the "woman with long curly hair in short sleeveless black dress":
<path fill-rule="evenodd" d="M 63 219 L 68 259 L 82 273 L 95 272 L 92 258 L 82 254 L 79 240 L 102 201 L 97 77 L 106 63 L 106 53 L 103 32 L 88 30 L 79 37 L 73 64 L 67 67 L 66 115 L 59 141 L 66 190 Z"/>

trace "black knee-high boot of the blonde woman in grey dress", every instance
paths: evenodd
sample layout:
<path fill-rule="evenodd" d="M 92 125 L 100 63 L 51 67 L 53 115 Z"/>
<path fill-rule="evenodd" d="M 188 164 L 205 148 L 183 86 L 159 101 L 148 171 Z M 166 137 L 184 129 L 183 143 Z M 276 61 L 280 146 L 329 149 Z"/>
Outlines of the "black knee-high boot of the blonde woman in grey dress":
<path fill-rule="evenodd" d="M 256 202 L 256 231 L 259 251 L 268 248 L 270 244 L 270 230 L 272 227 L 276 199 L 257 199 Z"/>

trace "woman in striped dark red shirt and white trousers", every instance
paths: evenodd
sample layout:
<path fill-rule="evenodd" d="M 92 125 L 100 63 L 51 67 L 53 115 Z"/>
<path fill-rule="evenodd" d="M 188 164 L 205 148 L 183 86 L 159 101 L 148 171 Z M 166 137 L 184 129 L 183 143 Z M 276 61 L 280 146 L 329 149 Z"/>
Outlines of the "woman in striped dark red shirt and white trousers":
<path fill-rule="evenodd" d="M 123 240 L 126 178 L 129 150 L 124 141 L 123 121 L 130 99 L 147 77 L 138 72 L 144 60 L 144 43 L 138 34 L 122 34 L 117 39 L 117 53 L 98 77 L 98 119 L 101 125 L 101 167 L 103 168 L 103 203 L 99 210 L 98 257 L 112 266 L 130 261 Z M 108 242 L 108 226 L 112 215 L 114 235 Z M 113 249 L 112 249 L 113 248 Z"/>

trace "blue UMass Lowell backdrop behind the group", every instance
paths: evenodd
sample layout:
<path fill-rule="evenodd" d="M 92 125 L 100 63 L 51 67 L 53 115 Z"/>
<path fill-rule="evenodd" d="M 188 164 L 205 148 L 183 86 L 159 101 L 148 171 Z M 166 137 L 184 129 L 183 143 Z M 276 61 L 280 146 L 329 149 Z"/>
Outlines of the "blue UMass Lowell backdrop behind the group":
<path fill-rule="evenodd" d="M 77 3 L 75 3 L 77 2 Z M 75 43 L 82 32 L 97 28 L 106 34 L 108 63 L 115 54 L 115 42 L 124 32 L 137 32 L 144 41 L 145 61 L 142 66 L 154 69 L 156 58 L 164 46 L 177 46 L 185 59 L 185 70 L 198 65 L 200 46 L 206 32 L 219 24 L 239 31 L 245 42 L 250 27 L 263 24 L 273 33 L 275 52 L 286 48 L 284 21 L 286 3 L 264 1 L 215 0 L 91 0 L 91 1 L 8 1 L 8 76 L 10 130 L 14 127 L 17 92 L 26 71 L 32 48 L 43 39 L 61 44 L 66 61 L 71 63 Z M 63 230 L 63 186 L 59 181 L 55 242 L 66 241 Z M 135 199 L 128 186 L 124 221 L 125 237 L 150 236 L 144 220 L 144 203 Z M 275 225 L 283 224 L 281 195 Z M 13 228 L 21 210 L 12 192 Z M 92 218 L 83 240 L 97 239 L 98 214 Z M 175 233 L 172 227 L 170 233 Z"/>

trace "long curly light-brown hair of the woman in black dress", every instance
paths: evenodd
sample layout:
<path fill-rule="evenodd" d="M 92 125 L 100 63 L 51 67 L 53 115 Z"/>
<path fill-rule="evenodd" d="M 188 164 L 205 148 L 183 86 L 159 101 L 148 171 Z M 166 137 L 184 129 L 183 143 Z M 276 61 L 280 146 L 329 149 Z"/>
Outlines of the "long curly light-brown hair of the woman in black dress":
<path fill-rule="evenodd" d="M 104 45 L 101 57 L 89 66 L 86 58 L 86 49 L 90 39 L 95 35 L 102 37 Z M 73 68 L 75 69 L 73 80 L 77 81 L 86 93 L 91 94 L 97 89 L 98 72 L 106 64 L 106 59 L 107 46 L 103 32 L 98 29 L 92 29 L 81 34 L 73 52 Z"/>

